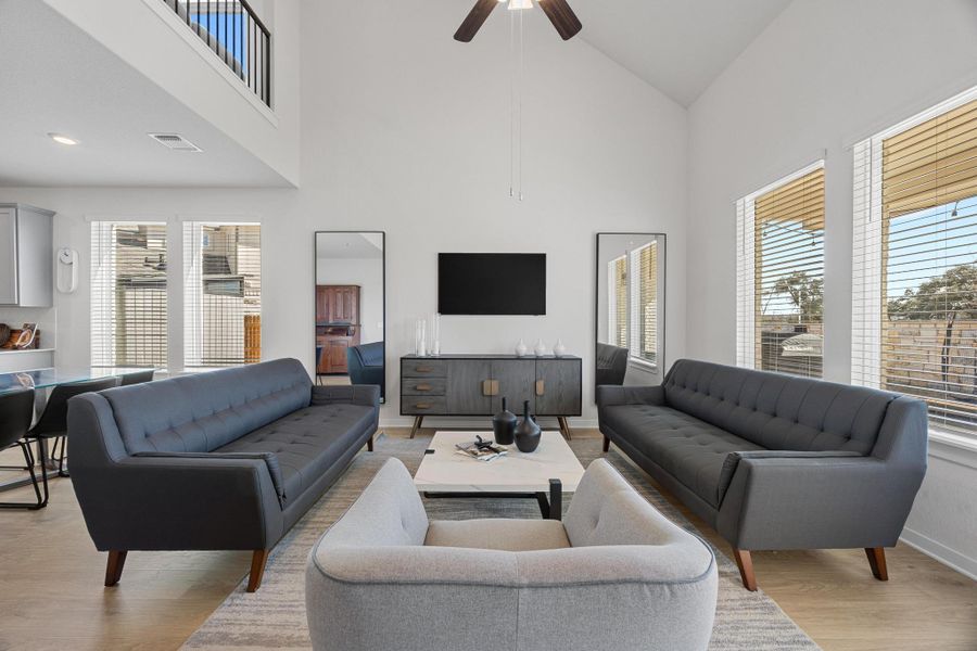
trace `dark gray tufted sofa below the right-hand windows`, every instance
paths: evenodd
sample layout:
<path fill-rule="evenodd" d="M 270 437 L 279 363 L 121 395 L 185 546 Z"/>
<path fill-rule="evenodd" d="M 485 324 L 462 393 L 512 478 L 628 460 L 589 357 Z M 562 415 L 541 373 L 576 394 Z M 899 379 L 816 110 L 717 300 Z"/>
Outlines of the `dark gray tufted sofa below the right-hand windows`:
<path fill-rule="evenodd" d="M 705 361 L 676 361 L 660 386 L 599 386 L 613 442 L 733 546 L 865 549 L 885 580 L 927 458 L 922 400 Z"/>

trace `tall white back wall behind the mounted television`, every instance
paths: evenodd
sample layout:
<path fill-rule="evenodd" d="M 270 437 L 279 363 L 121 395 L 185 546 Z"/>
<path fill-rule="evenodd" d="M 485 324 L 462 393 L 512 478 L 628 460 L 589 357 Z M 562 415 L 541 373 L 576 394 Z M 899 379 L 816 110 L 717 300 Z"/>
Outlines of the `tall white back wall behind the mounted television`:
<path fill-rule="evenodd" d="M 55 246 L 77 248 L 83 269 L 90 259 L 86 216 L 262 221 L 264 355 L 297 357 L 309 370 L 314 232 L 386 231 L 392 399 L 381 419 L 388 424 L 409 422 L 398 416 L 397 358 L 413 352 L 414 319 L 436 308 L 436 254 L 546 253 L 545 317 L 445 317 L 442 347 L 505 353 L 520 337 L 530 345 L 543 337 L 550 346 L 561 337 L 585 360 L 579 422 L 596 423 L 598 231 L 668 234 L 665 355 L 684 354 L 686 112 L 582 40 L 564 43 L 533 12 L 525 201 L 513 201 L 508 16 L 498 12 L 474 42 L 461 44 L 452 35 L 467 11 L 448 0 L 302 4 L 299 190 L 8 189 L 0 195 L 58 210 Z M 170 264 L 179 268 L 175 256 Z M 88 361 L 89 295 L 83 275 L 77 293 L 58 296 L 63 363 Z"/>

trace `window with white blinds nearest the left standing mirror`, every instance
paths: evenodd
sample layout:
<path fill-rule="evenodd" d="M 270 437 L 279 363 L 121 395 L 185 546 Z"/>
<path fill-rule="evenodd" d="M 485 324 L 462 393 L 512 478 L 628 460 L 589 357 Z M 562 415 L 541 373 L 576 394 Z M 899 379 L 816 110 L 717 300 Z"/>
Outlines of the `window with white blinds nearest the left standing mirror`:
<path fill-rule="evenodd" d="M 183 224 L 183 366 L 262 358 L 262 227 Z"/>

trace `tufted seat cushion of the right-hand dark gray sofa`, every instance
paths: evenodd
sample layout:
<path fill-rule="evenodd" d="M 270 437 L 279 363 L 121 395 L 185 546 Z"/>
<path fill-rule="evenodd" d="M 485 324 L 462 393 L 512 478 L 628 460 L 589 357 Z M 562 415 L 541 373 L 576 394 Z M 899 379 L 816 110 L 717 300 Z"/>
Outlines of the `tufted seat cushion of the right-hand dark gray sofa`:
<path fill-rule="evenodd" d="M 602 419 L 613 431 L 630 433 L 627 443 L 713 507 L 719 507 L 720 476 L 726 456 L 763 449 L 670 407 L 606 407 Z"/>

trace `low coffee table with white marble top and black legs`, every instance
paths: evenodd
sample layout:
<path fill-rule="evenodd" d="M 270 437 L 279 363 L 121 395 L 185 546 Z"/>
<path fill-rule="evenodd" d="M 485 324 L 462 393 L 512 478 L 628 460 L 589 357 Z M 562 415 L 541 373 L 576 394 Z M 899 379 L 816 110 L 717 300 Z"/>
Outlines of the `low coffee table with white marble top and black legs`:
<path fill-rule="evenodd" d="M 505 457 L 479 461 L 457 454 L 455 445 L 492 432 L 437 432 L 424 455 L 414 484 L 427 497 L 531 498 L 544 518 L 560 520 L 562 492 L 576 490 L 584 468 L 559 432 L 543 432 L 535 452 L 508 446 Z M 548 498 L 548 499 L 547 499 Z"/>

